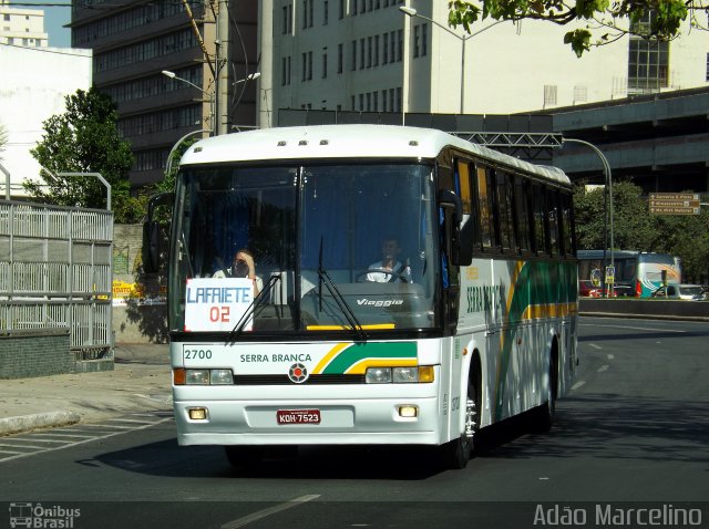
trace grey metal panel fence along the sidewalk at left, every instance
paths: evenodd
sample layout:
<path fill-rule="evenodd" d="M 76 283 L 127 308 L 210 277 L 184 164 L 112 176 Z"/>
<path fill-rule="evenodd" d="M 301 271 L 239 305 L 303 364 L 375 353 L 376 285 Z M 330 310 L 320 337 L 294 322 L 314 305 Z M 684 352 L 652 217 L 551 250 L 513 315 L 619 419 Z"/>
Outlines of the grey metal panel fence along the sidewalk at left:
<path fill-rule="evenodd" d="M 76 360 L 113 354 L 113 212 L 0 200 L 0 332 L 64 329 Z"/>

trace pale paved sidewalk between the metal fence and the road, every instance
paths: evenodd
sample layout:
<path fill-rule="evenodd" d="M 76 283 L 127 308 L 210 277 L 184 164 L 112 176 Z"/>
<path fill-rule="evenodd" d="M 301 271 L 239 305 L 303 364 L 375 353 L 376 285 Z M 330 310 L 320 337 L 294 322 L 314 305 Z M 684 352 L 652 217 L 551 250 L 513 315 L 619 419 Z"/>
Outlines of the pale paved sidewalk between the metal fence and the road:
<path fill-rule="evenodd" d="M 167 344 L 119 344 L 114 371 L 0 381 L 0 436 L 166 409 Z"/>

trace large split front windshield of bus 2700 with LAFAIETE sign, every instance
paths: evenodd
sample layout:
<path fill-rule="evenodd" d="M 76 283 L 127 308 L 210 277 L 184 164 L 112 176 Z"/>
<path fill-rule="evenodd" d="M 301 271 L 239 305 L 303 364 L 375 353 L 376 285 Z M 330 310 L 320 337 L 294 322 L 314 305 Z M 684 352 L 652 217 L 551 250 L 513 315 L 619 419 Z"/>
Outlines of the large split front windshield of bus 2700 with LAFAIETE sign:
<path fill-rule="evenodd" d="M 227 330 L 210 324 L 220 317 L 209 314 L 186 328 L 185 310 L 189 286 L 249 276 L 234 260 L 239 250 L 253 256 L 257 287 L 248 324 L 229 320 L 227 332 L 435 326 L 432 181 L 432 166 L 418 164 L 183 167 L 172 226 L 171 329 Z"/>

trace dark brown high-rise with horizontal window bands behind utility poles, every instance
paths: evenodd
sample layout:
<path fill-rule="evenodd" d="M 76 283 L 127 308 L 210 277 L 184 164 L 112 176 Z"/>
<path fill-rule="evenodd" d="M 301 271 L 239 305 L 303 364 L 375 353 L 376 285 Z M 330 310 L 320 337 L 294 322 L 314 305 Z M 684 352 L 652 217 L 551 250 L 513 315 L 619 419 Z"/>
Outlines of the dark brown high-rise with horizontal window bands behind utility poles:
<path fill-rule="evenodd" d="M 133 188 L 163 179 L 185 135 L 254 126 L 253 83 L 238 81 L 258 68 L 256 18 L 250 1 L 74 2 L 72 45 L 93 50 L 94 84 L 117 103 Z"/>

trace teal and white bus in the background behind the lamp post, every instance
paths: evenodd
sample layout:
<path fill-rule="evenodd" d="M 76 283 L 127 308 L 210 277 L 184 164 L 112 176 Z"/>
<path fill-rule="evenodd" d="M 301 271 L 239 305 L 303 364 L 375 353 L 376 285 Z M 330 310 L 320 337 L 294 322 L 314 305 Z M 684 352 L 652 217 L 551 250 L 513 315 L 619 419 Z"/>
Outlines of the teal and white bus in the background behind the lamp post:
<path fill-rule="evenodd" d="M 603 297 L 603 250 L 578 250 L 577 255 L 579 294 Z M 610 266 L 610 251 L 605 257 Z M 681 282 L 680 260 L 668 253 L 614 250 L 613 260 L 616 295 L 649 298 L 660 287 Z"/>

